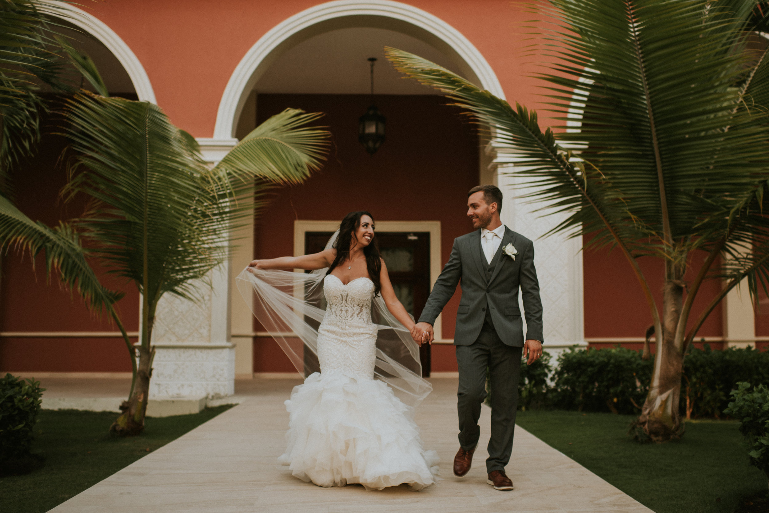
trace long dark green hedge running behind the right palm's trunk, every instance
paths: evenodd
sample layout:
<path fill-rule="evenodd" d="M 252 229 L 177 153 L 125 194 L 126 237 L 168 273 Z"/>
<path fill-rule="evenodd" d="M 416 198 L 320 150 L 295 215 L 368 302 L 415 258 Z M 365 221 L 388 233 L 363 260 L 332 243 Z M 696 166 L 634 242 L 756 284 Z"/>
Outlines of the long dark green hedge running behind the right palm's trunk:
<path fill-rule="evenodd" d="M 544 352 L 531 366 L 521 364 L 518 408 L 638 413 L 653 365 L 653 360 L 641 359 L 641 351 L 619 346 L 600 350 L 574 347 L 562 352 L 554 366 L 551 355 Z M 692 348 L 684 359 L 681 414 L 692 419 L 719 418 L 738 382 L 769 386 L 769 351 L 714 351 L 707 344 L 704 349 Z"/>

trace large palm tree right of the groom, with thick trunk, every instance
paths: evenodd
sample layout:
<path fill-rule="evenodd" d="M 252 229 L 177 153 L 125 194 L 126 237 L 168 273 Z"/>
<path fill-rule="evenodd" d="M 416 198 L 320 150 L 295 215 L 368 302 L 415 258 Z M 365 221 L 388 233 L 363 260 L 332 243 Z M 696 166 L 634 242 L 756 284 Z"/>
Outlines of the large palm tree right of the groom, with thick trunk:
<path fill-rule="evenodd" d="M 769 279 L 769 58 L 766 45 L 751 51 L 766 24 L 762 8 L 744 0 L 543 2 L 538 37 L 552 64 L 539 77 L 561 123 L 544 132 L 534 111 L 387 51 L 398 70 L 453 99 L 519 157 L 516 173 L 535 186 L 528 197 L 569 213 L 553 232 L 626 257 L 656 333 L 639 439 L 681 436 L 681 368 L 697 329 L 744 279 L 754 296 Z M 575 114 L 578 127 L 566 123 Z M 695 254 L 704 264 L 684 281 Z M 661 308 L 641 257 L 664 262 Z M 704 280 L 724 286 L 690 319 Z"/>

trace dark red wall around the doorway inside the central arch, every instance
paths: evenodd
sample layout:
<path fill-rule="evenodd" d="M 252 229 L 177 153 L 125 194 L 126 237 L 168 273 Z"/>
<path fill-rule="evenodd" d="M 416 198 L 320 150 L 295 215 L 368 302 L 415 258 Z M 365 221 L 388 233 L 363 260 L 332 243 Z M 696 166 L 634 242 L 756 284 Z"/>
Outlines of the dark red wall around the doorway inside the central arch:
<path fill-rule="evenodd" d="M 478 184 L 478 139 L 471 125 L 441 97 L 381 96 L 376 104 L 387 117 L 387 141 L 369 157 L 358 143 L 358 117 L 369 102 L 355 94 L 259 95 L 259 122 L 289 106 L 327 113 L 321 123 L 333 134 L 333 147 L 323 170 L 278 191 L 255 233 L 257 257 L 293 254 L 295 219 L 341 220 L 352 210 L 369 210 L 375 220 L 440 220 L 441 265 L 454 238 L 472 230 L 464 215 L 467 191 Z M 458 300 L 456 294 L 444 309 L 444 338 L 454 336 Z M 266 346 L 256 342 L 255 372 L 285 372 L 288 360 L 273 359 L 274 342 Z M 443 352 L 436 350 L 434 371 L 455 367 Z"/>

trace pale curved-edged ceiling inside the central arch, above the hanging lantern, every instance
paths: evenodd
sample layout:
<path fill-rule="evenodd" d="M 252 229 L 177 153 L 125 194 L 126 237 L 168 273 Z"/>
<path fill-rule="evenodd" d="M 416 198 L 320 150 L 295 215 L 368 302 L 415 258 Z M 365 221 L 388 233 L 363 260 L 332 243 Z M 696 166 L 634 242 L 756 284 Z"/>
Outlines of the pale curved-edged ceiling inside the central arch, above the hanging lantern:
<path fill-rule="evenodd" d="M 384 58 L 385 46 L 410 51 L 458 73 L 451 58 L 410 35 L 384 28 L 341 28 L 309 38 L 280 55 L 254 89 L 258 93 L 368 94 L 366 59 L 376 57 L 375 94 L 438 94 L 395 71 Z"/>

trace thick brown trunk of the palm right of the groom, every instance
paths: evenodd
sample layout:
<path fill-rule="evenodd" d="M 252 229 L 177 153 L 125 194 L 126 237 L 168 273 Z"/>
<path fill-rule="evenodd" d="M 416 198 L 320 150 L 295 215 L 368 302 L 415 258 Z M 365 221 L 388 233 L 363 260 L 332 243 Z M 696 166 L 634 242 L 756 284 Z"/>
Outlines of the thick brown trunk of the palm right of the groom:
<path fill-rule="evenodd" d="M 681 372 L 684 359 L 676 349 L 675 335 L 681 319 L 684 287 L 680 280 L 667 280 L 663 290 L 664 309 L 661 341 L 654 354 L 654 372 L 641 416 L 634 422 L 636 438 L 667 442 L 681 438 L 684 423 L 679 413 Z"/>

